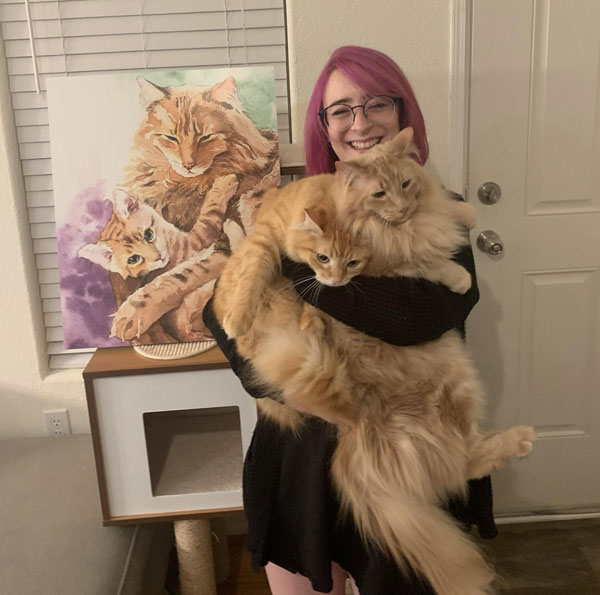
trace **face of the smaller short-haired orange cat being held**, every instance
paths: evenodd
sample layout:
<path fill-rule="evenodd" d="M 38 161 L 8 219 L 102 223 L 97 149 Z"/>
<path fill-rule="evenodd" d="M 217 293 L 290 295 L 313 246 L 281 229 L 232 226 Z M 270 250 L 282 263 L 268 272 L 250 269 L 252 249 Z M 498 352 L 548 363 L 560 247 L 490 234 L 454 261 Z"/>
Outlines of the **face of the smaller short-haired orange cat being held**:
<path fill-rule="evenodd" d="M 315 279 L 338 287 L 360 275 L 371 250 L 335 225 L 323 211 L 309 209 L 305 213 L 304 223 L 295 231 L 297 257 L 313 269 Z"/>

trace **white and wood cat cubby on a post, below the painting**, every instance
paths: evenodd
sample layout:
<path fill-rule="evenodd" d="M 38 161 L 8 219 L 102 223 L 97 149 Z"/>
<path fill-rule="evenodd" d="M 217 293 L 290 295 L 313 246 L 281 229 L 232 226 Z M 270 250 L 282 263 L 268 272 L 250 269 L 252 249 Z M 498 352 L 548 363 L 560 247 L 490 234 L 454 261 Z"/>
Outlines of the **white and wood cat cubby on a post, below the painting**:
<path fill-rule="evenodd" d="M 104 524 L 174 521 L 183 594 L 213 595 L 209 519 L 243 510 L 254 400 L 217 347 L 179 360 L 99 349 L 83 376 Z"/>

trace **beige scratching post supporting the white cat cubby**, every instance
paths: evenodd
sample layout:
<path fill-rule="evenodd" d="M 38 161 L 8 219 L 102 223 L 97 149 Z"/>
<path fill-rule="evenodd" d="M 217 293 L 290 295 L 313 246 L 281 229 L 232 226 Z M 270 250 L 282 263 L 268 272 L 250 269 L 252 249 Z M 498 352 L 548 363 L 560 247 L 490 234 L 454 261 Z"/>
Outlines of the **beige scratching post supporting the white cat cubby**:
<path fill-rule="evenodd" d="M 210 521 L 175 521 L 174 526 L 181 595 L 217 595 Z"/>

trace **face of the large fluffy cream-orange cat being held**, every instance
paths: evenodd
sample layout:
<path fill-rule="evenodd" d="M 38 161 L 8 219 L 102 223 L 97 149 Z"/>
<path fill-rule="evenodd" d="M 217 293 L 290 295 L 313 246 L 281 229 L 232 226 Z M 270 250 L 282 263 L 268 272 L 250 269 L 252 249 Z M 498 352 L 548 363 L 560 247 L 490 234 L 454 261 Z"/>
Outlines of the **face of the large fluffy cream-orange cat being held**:
<path fill-rule="evenodd" d="M 347 200 L 353 213 L 391 225 L 405 223 L 414 215 L 424 177 L 422 166 L 412 158 L 411 141 L 412 129 L 405 129 L 358 159 L 336 164 L 352 189 Z"/>

